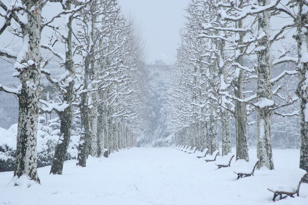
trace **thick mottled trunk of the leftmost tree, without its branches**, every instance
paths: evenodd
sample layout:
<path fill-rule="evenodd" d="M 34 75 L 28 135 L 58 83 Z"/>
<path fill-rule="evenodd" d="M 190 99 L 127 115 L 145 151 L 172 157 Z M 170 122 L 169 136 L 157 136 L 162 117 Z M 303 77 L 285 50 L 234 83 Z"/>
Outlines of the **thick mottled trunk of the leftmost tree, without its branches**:
<path fill-rule="evenodd" d="M 39 120 L 39 99 L 42 92 L 40 87 L 40 62 L 42 61 L 41 47 L 41 22 L 42 8 L 44 4 L 29 0 L 22 1 L 27 8 L 36 8 L 36 14 L 24 14 L 27 23 L 22 24 L 23 49 L 17 57 L 16 64 L 28 63 L 28 67 L 20 71 L 22 84 L 21 93 L 18 95 L 18 130 L 16 164 L 14 177 L 22 175 L 30 177 L 40 183 L 37 173 L 37 124 Z M 23 18 L 23 17 L 21 17 Z M 25 50 L 24 50 L 25 49 Z M 31 62 L 32 61 L 32 62 Z"/>

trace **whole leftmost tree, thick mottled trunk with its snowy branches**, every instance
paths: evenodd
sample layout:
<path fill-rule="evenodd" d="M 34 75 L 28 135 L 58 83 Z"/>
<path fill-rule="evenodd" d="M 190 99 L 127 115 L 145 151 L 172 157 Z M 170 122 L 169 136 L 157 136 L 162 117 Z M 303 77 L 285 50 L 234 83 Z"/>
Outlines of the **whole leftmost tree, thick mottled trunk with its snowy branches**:
<path fill-rule="evenodd" d="M 27 0 L 21 4 L 15 2 L 6 6 L 0 2 L 4 10 L 0 14 L 5 19 L 0 28 L 0 35 L 11 25 L 14 20 L 18 27 L 11 29 L 13 34 L 22 38 L 22 49 L 19 53 L 9 48 L 0 48 L 0 55 L 13 59 L 15 77 L 20 79 L 17 89 L 10 89 L 0 83 L 0 90 L 15 94 L 18 97 L 18 131 L 16 165 L 14 177 L 26 175 L 31 180 L 40 183 L 37 173 L 37 124 L 39 119 L 39 98 L 42 92 L 41 77 L 41 30 L 42 9 L 46 1 Z"/>

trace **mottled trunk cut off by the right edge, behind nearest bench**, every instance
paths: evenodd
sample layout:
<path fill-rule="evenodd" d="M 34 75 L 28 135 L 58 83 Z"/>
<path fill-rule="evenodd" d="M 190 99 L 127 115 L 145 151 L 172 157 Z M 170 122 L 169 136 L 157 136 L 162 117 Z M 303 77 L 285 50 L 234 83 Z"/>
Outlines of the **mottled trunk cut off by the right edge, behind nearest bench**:
<path fill-rule="evenodd" d="M 308 3 L 304 0 L 298 1 L 298 16 L 296 23 L 298 24 L 294 39 L 297 41 L 298 47 L 298 85 L 296 94 L 300 102 L 300 118 L 301 118 L 301 147 L 299 168 L 308 172 L 308 31 L 303 25 L 308 24 Z M 303 180 L 308 183 L 308 176 Z"/>

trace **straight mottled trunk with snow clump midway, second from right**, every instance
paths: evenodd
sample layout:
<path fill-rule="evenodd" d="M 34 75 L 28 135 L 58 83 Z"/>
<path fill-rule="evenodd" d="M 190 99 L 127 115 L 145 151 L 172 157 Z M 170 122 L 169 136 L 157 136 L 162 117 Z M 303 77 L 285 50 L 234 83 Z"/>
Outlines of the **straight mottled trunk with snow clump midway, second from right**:
<path fill-rule="evenodd" d="M 269 2 L 260 0 L 259 6 L 265 6 Z M 274 114 L 270 110 L 274 104 L 272 101 L 272 64 L 270 62 L 270 12 L 258 14 L 259 35 L 257 41 L 257 158 L 260 162 L 257 168 L 267 167 L 274 169 L 272 143 L 271 143 L 271 120 Z M 263 35 L 262 35 L 263 34 Z M 272 102 L 272 103 L 271 103 Z"/>

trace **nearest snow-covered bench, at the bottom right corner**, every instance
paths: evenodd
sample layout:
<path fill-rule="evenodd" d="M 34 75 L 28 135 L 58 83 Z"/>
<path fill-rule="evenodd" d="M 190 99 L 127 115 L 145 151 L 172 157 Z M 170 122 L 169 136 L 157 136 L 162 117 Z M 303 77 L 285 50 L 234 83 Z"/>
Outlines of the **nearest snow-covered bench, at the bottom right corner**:
<path fill-rule="evenodd" d="M 267 189 L 274 193 L 273 201 L 275 201 L 275 198 L 278 195 L 280 195 L 279 199 L 284 199 L 287 196 L 294 197 L 294 194 L 299 196 L 299 186 L 301 185 L 302 180 L 306 175 L 307 172 L 305 170 L 296 168 L 291 172 L 289 180 L 286 184 L 268 187 Z M 282 197 L 283 194 L 285 194 L 284 197 Z"/>

